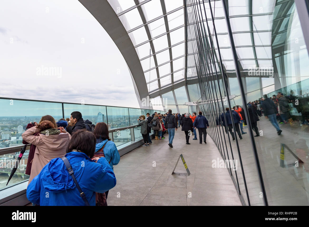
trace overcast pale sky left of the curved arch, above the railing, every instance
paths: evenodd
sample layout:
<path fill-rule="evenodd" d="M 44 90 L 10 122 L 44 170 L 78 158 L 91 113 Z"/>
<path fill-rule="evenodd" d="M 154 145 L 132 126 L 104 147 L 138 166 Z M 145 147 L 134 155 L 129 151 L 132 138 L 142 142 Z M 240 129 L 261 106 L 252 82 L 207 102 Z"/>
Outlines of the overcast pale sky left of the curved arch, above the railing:
<path fill-rule="evenodd" d="M 77 0 L 1 1 L 0 21 L 0 97 L 139 108 L 123 56 Z"/>

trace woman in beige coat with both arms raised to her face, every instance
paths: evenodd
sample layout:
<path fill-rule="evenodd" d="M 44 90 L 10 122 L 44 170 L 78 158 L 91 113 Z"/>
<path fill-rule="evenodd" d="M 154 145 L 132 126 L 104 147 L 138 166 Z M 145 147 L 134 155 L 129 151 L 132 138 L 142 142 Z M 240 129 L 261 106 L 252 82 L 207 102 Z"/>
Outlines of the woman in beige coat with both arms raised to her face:
<path fill-rule="evenodd" d="M 71 135 L 63 127 L 58 129 L 56 122 L 45 120 L 22 134 L 24 141 L 36 145 L 28 185 L 50 160 L 66 154 Z"/>

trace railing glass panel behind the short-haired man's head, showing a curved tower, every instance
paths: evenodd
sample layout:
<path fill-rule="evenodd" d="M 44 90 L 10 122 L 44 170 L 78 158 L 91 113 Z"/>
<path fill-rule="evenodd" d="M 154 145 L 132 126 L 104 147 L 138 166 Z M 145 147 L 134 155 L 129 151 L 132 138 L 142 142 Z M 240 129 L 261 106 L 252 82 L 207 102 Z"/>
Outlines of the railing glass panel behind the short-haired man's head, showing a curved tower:
<path fill-rule="evenodd" d="M 89 120 L 92 124 L 99 122 L 107 123 L 106 107 L 98 105 L 78 105 L 78 104 L 63 104 L 64 117 L 70 118 L 73 111 L 79 111 L 83 115 L 84 121 Z M 108 119 L 109 120 L 109 119 Z"/>

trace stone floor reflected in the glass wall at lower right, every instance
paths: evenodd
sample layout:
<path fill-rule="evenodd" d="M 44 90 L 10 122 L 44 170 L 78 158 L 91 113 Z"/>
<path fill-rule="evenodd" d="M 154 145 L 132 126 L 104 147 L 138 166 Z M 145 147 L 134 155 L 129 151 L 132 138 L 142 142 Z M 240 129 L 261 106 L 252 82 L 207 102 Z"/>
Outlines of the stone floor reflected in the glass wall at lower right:
<path fill-rule="evenodd" d="M 279 127 L 282 130 L 282 133 L 280 136 L 278 136 L 275 128 L 264 116 L 260 117 L 260 121 L 257 122 L 257 126 L 262 136 L 255 137 L 254 140 L 258 152 L 257 155 L 260 162 L 269 205 L 308 206 L 308 127 L 304 125 L 299 126 L 298 122 L 293 122 L 291 124 L 280 124 Z M 227 134 L 225 134 L 222 127 L 210 127 L 209 130 L 216 132 L 214 139 L 217 138 L 218 141 L 219 138 L 220 142 L 218 144 L 220 144 L 221 147 L 224 146 L 226 159 L 228 159 L 227 155 L 229 155 L 229 159 L 238 160 L 238 170 L 232 171 L 232 175 L 235 179 L 237 176 L 240 192 L 242 193 L 246 204 L 248 204 L 248 199 L 246 196 L 243 174 L 245 176 L 248 188 L 250 204 L 263 205 L 263 195 L 261 195 L 262 192 L 260 189 L 260 183 L 258 180 L 252 151 L 252 143 L 250 141 L 249 134 L 247 133 L 242 135 L 242 140 L 239 140 L 237 137 L 240 150 L 240 153 L 238 153 L 236 141 L 231 141 L 230 146 Z M 244 131 L 248 132 L 248 126 L 245 126 Z M 227 153 L 223 136 L 225 136 L 226 139 Z M 221 141 L 223 141 L 223 144 Z M 299 163 L 299 166 L 296 167 L 295 161 L 297 161 L 297 159 L 295 159 L 293 155 L 286 149 L 284 158 L 285 167 L 282 168 L 280 166 L 281 143 L 284 143 L 286 146 L 288 146 L 295 155 L 301 158 L 304 163 Z M 243 171 L 239 161 L 240 158 L 243 163 Z"/>

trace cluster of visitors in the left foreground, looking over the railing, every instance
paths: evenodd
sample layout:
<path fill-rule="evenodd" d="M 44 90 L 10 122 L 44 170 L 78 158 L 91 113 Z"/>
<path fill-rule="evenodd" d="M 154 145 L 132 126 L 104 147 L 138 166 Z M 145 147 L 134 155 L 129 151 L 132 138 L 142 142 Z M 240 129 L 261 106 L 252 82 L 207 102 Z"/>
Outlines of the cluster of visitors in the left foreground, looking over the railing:
<path fill-rule="evenodd" d="M 94 125 L 74 111 L 58 122 L 45 115 L 26 129 L 27 198 L 33 205 L 107 205 L 120 155 L 106 123 Z"/>

